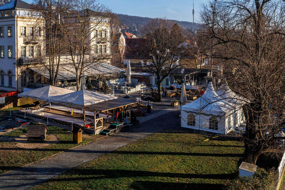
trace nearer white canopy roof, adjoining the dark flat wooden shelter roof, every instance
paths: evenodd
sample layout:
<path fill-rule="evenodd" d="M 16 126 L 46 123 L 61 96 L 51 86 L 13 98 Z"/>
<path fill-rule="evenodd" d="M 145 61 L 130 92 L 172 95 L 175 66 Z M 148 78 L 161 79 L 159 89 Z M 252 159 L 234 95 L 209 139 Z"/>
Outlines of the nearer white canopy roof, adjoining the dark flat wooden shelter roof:
<path fill-rule="evenodd" d="M 109 96 L 106 94 L 101 94 L 93 91 L 80 90 L 73 91 L 72 93 L 54 96 L 49 99 L 53 103 L 61 103 L 64 105 L 69 105 L 73 107 L 84 107 L 86 105 L 95 104 L 98 102 L 103 102 L 111 99 L 116 99 L 115 96 Z"/>

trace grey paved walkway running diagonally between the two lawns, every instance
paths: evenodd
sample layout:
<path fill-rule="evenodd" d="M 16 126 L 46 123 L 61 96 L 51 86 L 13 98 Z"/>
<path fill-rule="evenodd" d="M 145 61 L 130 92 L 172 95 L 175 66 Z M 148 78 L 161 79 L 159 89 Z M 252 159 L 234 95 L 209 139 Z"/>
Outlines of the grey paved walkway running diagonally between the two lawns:
<path fill-rule="evenodd" d="M 177 112 L 172 109 L 168 107 L 166 110 L 138 118 L 140 124 L 137 126 L 2 174 L 0 189 L 27 189 L 154 132 L 180 128 Z"/>

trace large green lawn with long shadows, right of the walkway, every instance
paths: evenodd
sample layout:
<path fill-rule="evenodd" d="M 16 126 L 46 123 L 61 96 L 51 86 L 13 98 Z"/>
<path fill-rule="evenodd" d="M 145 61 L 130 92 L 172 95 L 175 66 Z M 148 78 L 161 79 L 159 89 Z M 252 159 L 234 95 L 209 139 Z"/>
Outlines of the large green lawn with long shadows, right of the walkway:
<path fill-rule="evenodd" d="M 243 143 L 155 133 L 32 189 L 222 189 L 238 174 Z"/>

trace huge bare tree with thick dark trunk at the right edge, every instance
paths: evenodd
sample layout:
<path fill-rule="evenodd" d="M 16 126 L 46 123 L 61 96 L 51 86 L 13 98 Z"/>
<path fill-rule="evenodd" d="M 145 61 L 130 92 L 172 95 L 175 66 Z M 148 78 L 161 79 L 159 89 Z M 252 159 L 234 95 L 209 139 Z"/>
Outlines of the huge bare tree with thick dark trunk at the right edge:
<path fill-rule="evenodd" d="M 285 6 L 281 0 L 210 1 L 203 6 L 200 35 L 211 57 L 223 65 L 223 78 L 243 105 L 246 120 L 244 162 L 280 149 L 274 137 L 284 122 Z"/>

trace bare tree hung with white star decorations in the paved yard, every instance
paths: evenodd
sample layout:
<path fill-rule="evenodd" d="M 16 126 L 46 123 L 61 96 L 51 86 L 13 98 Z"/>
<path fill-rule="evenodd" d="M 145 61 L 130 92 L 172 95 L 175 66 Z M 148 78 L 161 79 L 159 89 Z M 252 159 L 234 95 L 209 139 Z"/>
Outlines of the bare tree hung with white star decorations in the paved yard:
<path fill-rule="evenodd" d="M 169 20 L 152 19 L 142 32 L 146 37 L 139 46 L 145 58 L 142 65 L 156 74 L 159 101 L 162 101 L 162 81 L 171 71 L 179 68 L 180 60 L 187 55 L 189 44 L 186 43 L 185 32 L 177 23 Z"/>

